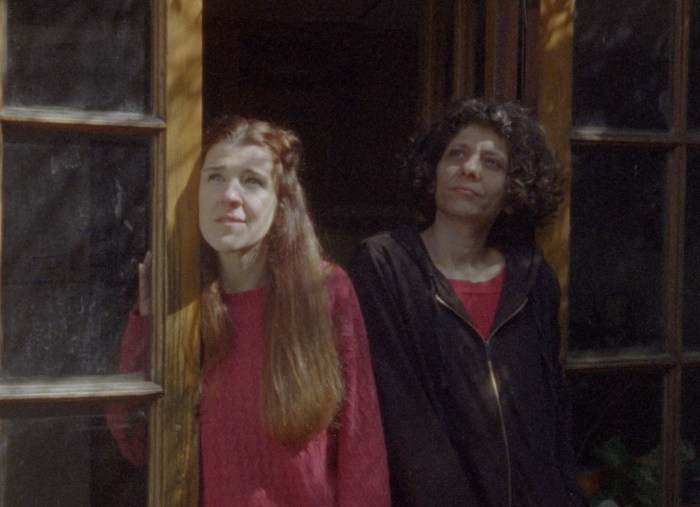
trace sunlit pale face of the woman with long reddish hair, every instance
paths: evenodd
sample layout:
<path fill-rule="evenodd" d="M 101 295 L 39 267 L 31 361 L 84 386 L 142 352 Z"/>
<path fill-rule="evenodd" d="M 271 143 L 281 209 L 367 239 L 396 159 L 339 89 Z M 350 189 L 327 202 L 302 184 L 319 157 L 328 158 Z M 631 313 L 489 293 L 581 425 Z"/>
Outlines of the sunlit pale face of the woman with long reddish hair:
<path fill-rule="evenodd" d="M 245 253 L 270 231 L 277 210 L 269 150 L 221 141 L 204 157 L 199 182 L 199 228 L 219 254 Z"/>

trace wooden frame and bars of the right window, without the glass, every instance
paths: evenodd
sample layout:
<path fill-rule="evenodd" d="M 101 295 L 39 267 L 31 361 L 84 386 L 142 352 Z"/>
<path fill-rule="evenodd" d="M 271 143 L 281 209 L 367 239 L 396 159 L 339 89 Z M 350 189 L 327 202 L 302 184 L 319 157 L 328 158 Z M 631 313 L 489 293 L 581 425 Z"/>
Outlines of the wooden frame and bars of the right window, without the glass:
<path fill-rule="evenodd" d="M 562 359 L 567 372 L 661 372 L 663 401 L 658 410 L 662 412 L 662 501 L 666 506 L 680 505 L 681 376 L 685 368 L 700 365 L 700 351 L 684 350 L 682 344 L 685 170 L 688 149 L 691 146 L 697 147 L 700 143 L 700 136 L 686 128 L 689 3 L 685 0 L 674 0 L 669 6 L 673 16 L 670 69 L 672 119 L 668 131 L 659 133 L 572 127 L 574 4 L 574 0 L 539 2 L 541 30 L 538 39 L 539 51 L 543 57 L 537 62 L 537 111 L 568 175 L 571 174 L 571 147 L 574 145 L 668 149 L 665 196 L 668 220 L 663 274 L 665 333 L 662 338 L 663 346 L 659 351 L 620 351 L 614 355 L 604 351 L 590 351 L 585 358 L 569 355 L 566 323 L 571 189 L 568 188 L 563 213 L 542 236 L 545 253 L 553 264 L 563 289 Z"/>

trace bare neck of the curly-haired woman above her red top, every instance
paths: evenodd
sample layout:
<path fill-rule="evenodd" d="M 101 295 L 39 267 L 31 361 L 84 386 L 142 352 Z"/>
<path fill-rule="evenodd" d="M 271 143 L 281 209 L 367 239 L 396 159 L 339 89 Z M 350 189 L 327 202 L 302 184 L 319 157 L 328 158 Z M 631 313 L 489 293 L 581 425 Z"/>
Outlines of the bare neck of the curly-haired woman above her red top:
<path fill-rule="evenodd" d="M 503 255 L 488 245 L 490 228 L 436 219 L 421 233 L 428 254 L 446 278 L 483 282 L 500 273 Z"/>

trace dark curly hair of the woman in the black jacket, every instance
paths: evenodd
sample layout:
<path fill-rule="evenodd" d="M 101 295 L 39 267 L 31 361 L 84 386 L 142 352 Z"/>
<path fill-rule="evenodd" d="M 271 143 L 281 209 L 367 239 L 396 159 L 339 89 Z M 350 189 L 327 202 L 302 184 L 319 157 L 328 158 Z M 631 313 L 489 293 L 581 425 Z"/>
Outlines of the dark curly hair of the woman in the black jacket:
<path fill-rule="evenodd" d="M 501 136 L 508 147 L 504 210 L 494 223 L 491 244 L 531 243 L 535 230 L 554 215 L 563 195 L 561 166 L 542 126 L 514 102 L 463 99 L 450 103 L 410 141 L 402 164 L 410 206 L 420 222 L 435 219 L 434 188 L 437 165 L 460 130 L 475 124 Z"/>

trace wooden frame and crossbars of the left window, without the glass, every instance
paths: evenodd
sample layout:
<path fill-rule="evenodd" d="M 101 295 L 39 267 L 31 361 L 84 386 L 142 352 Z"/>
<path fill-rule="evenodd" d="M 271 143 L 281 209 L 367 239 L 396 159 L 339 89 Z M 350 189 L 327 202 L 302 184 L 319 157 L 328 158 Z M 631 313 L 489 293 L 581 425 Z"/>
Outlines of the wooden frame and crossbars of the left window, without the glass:
<path fill-rule="evenodd" d="M 0 408 L 113 400 L 150 403 L 148 505 L 190 506 L 199 499 L 199 235 L 192 210 L 197 209 L 193 169 L 202 131 L 202 0 L 151 0 L 150 6 L 152 114 L 0 103 L 0 126 L 151 140 L 150 380 L 80 376 L 0 383 Z M 2 27 L 7 26 L 6 10 L 6 1 L 0 0 Z M 0 49 L 6 49 L 4 35 L 0 28 Z"/>

